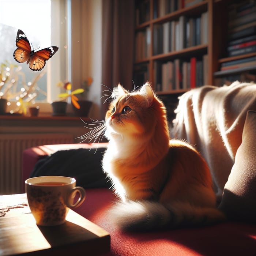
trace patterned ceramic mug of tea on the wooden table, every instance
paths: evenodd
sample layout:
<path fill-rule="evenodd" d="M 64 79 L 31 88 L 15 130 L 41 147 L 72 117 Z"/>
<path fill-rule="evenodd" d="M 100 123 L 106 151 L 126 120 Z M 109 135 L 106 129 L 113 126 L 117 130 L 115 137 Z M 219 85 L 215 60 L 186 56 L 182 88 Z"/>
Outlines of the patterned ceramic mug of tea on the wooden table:
<path fill-rule="evenodd" d="M 75 178 L 40 176 L 25 181 L 30 210 L 39 226 L 63 224 L 69 208 L 83 203 L 86 192 L 76 187 Z M 79 198 L 74 202 L 76 194 Z"/>

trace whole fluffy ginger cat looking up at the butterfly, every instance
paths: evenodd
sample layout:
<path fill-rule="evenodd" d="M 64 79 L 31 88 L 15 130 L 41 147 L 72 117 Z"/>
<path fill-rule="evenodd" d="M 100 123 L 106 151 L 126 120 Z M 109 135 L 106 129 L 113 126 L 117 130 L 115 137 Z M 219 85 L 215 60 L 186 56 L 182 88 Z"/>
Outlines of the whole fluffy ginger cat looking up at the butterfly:
<path fill-rule="evenodd" d="M 112 98 L 102 166 L 123 201 L 113 207 L 114 222 L 149 231 L 224 220 L 207 163 L 189 144 L 170 140 L 165 106 L 150 84 L 132 93 L 118 84 Z"/>

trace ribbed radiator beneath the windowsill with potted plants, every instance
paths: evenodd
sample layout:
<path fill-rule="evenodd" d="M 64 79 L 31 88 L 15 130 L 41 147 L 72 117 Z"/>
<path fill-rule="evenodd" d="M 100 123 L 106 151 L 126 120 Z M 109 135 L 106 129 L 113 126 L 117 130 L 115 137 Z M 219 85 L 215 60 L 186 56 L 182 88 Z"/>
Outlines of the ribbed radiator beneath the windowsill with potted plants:
<path fill-rule="evenodd" d="M 70 133 L 0 134 L 0 195 L 22 193 L 23 150 L 67 143 L 74 143 Z"/>

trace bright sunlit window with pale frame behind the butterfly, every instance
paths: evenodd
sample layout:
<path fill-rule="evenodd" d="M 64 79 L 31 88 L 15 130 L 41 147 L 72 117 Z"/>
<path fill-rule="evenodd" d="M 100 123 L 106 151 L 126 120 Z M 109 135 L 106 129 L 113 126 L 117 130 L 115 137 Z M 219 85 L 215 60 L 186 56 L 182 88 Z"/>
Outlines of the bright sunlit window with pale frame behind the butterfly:
<path fill-rule="evenodd" d="M 32 82 L 38 74 L 46 72 L 38 80 L 36 101 L 51 102 L 57 98 L 60 89 L 58 81 L 71 80 L 68 74 L 68 2 L 69 0 L 0 0 L 0 64 L 20 66 L 18 87 Z M 58 46 L 58 52 L 48 61 L 41 71 L 32 71 L 25 63 L 17 63 L 13 58 L 16 49 L 15 39 L 21 29 L 29 39 L 30 45 L 37 50 L 49 46 Z M 70 33 L 69 33 L 70 34 Z"/>

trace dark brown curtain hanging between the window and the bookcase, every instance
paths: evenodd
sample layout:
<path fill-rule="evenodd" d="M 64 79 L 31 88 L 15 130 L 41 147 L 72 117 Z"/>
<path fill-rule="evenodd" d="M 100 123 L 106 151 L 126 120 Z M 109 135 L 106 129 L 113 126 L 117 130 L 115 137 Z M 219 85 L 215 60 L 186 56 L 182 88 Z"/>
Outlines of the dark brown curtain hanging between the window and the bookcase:
<path fill-rule="evenodd" d="M 118 83 L 133 89 L 133 48 L 134 1 L 102 0 L 102 91 L 105 86 L 112 90 Z M 107 109 L 108 103 L 104 103 L 103 118 Z"/>

